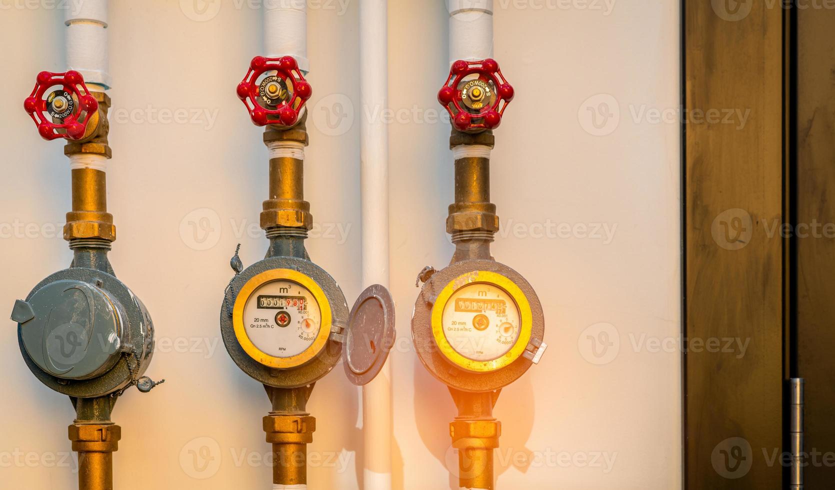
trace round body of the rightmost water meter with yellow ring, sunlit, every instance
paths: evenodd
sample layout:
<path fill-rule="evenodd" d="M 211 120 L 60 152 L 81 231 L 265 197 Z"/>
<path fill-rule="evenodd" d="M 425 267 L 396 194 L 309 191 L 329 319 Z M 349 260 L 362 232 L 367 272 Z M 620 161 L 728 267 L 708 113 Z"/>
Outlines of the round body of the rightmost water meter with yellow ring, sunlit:
<path fill-rule="evenodd" d="M 424 275 L 412 336 L 423 365 L 448 386 L 493 391 L 544 353 L 542 306 L 518 272 L 468 259 Z"/>

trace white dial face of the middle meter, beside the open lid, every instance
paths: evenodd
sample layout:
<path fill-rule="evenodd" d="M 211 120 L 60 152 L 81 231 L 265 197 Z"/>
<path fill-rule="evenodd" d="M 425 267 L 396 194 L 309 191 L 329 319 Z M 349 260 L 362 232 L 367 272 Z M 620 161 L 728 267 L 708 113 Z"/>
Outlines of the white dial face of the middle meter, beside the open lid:
<path fill-rule="evenodd" d="M 298 356 L 311 348 L 321 329 L 321 310 L 310 290 L 292 280 L 259 286 L 244 305 L 246 336 L 273 357 Z"/>

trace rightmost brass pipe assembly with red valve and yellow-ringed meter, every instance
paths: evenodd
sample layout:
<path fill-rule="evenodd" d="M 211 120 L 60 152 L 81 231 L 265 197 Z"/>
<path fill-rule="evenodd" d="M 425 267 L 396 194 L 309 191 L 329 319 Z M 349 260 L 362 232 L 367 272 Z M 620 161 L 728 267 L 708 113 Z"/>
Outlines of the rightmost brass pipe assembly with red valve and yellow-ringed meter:
<path fill-rule="evenodd" d="M 533 287 L 490 255 L 498 231 L 490 202 L 491 129 L 513 96 L 493 59 L 453 63 L 438 92 L 453 121 L 455 202 L 447 232 L 455 253 L 446 268 L 426 267 L 418 275 L 423 289 L 412 337 L 423 365 L 449 386 L 458 407 L 449 428 L 463 488 L 493 489 L 493 449 L 501 435 L 493 406 L 501 389 L 538 363 L 547 347 Z"/>

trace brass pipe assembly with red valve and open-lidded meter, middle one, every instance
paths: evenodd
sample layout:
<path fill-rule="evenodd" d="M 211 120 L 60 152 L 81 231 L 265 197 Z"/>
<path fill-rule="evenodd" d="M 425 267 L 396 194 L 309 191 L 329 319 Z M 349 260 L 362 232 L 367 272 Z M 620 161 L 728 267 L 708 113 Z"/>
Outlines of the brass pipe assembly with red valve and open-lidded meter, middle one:
<path fill-rule="evenodd" d="M 377 376 L 394 343 L 394 302 L 386 288 L 372 285 L 348 311 L 337 281 L 307 255 L 313 217 L 302 171 L 311 86 L 296 59 L 253 58 L 237 93 L 253 123 L 266 126 L 270 196 L 261 228 L 270 245 L 266 258 L 246 269 L 235 251 L 220 331 L 232 359 L 272 402 L 263 428 L 273 448 L 273 483 L 304 488 L 306 444 L 316 430 L 306 411 L 313 386 L 340 361 L 357 386 Z"/>

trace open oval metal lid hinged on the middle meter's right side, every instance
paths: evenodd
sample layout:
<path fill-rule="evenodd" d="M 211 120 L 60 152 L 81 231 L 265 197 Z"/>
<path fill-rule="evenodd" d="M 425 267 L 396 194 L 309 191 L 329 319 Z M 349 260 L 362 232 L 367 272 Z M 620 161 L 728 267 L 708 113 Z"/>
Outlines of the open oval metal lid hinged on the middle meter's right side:
<path fill-rule="evenodd" d="M 370 285 L 357 298 L 345 332 L 345 374 L 353 384 L 372 381 L 394 345 L 394 301 L 382 285 Z"/>

